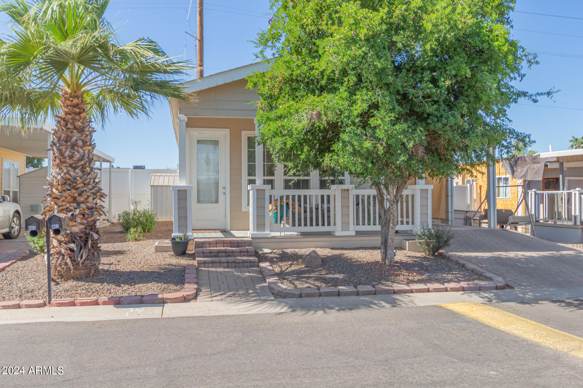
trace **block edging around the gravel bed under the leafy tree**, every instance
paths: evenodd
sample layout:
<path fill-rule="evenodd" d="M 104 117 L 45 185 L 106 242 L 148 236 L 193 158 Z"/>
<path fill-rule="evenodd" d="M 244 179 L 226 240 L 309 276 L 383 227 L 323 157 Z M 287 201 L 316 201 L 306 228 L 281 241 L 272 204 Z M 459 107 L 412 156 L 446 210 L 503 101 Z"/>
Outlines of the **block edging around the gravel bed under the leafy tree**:
<path fill-rule="evenodd" d="M 447 257 L 446 255 L 444 255 Z M 452 261 L 460 260 L 459 258 L 448 257 Z M 456 261 L 459 262 L 459 261 Z M 465 265 L 460 262 L 459 264 Z M 468 268 L 468 267 L 466 267 Z M 410 293 L 439 293 L 446 291 L 482 291 L 482 290 L 504 290 L 506 283 L 501 277 L 488 272 L 481 272 L 479 268 L 468 268 L 473 272 L 479 273 L 493 279 L 491 282 L 449 282 L 427 283 L 427 284 L 393 284 L 392 286 L 340 286 L 315 288 L 294 289 L 285 286 L 275 275 L 269 262 L 259 263 L 259 270 L 267 283 L 269 290 L 273 295 L 280 298 L 310 298 L 310 297 L 337 297 L 337 296 L 364 296 L 364 295 L 386 295 L 386 294 L 410 294 Z"/>

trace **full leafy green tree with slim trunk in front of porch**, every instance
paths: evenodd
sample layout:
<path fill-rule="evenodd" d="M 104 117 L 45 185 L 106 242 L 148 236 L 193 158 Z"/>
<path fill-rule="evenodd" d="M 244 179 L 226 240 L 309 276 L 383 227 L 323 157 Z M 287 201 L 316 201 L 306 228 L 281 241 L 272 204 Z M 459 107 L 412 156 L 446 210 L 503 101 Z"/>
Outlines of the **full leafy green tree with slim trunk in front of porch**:
<path fill-rule="evenodd" d="M 511 37 L 512 0 L 272 0 L 258 58 L 258 141 L 292 170 L 347 170 L 380 203 L 394 261 L 397 201 L 413 178 L 456 176 L 527 134 L 507 108 L 536 56 Z M 516 82 L 515 82 L 516 81 Z"/>

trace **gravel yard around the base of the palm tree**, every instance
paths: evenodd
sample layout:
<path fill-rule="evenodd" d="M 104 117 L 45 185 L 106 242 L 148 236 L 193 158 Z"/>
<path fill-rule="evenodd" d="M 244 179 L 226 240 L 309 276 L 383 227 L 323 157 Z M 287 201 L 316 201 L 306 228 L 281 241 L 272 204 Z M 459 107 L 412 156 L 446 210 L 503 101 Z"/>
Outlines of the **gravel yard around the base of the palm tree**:
<path fill-rule="evenodd" d="M 52 283 L 52 298 L 164 294 L 184 288 L 184 266 L 194 257 L 154 253 L 154 243 L 172 233 L 172 222 L 158 222 L 146 240 L 125 241 L 119 224 L 100 228 L 101 274 L 92 279 Z M 31 254 L 0 272 L 0 301 L 47 300 L 44 254 Z"/>

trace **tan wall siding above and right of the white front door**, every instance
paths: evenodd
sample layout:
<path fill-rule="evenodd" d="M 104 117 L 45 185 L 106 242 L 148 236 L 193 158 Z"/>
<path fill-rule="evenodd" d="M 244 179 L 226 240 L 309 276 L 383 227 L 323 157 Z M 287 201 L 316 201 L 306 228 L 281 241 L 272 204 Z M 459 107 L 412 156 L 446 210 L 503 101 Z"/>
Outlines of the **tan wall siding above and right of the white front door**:
<path fill-rule="evenodd" d="M 218 88 L 218 87 L 217 87 Z M 241 131 L 255 131 L 255 122 L 252 118 L 201 118 L 188 117 L 188 128 L 217 128 L 229 129 L 229 223 L 230 230 L 249 230 L 249 212 L 241 210 L 243 197 L 241 187 L 243 182 L 243 166 L 241 163 Z"/>

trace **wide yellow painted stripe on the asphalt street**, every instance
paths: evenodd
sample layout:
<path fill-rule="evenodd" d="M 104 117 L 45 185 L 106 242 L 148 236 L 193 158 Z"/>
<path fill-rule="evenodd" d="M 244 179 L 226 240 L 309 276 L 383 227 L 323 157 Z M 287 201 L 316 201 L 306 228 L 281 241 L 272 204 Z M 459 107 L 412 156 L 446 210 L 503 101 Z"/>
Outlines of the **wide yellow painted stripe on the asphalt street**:
<path fill-rule="evenodd" d="M 504 333 L 583 358 L 583 338 L 548 328 L 530 319 L 481 303 L 458 302 L 440 306 Z"/>

